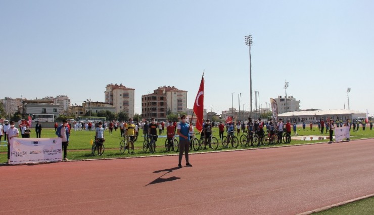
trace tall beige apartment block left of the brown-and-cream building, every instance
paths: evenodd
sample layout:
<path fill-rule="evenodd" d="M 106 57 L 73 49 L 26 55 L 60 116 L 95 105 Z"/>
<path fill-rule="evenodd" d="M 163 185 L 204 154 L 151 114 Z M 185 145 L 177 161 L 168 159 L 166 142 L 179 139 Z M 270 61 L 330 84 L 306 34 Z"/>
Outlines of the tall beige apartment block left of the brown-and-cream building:
<path fill-rule="evenodd" d="M 135 114 L 135 89 L 109 84 L 106 87 L 105 103 L 112 104 L 116 113 L 124 111 L 129 117 Z"/>

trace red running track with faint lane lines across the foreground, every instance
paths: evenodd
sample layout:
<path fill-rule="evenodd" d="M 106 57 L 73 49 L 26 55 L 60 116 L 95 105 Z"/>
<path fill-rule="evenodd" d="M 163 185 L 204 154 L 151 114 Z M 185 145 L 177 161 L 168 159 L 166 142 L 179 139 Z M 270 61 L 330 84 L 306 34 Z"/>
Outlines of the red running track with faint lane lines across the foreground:
<path fill-rule="evenodd" d="M 373 141 L 2 166 L 0 214 L 297 214 L 374 193 Z"/>

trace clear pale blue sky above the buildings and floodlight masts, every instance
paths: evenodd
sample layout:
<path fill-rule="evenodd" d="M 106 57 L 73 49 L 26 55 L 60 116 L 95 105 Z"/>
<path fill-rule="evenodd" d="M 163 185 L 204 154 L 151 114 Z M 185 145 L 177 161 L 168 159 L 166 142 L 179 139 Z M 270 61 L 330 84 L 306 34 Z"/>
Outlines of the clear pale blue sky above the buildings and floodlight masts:
<path fill-rule="evenodd" d="M 141 96 L 188 91 L 205 70 L 205 108 L 249 110 L 285 95 L 301 109 L 374 112 L 373 1 L 0 1 L 0 98 L 104 101 L 107 84 Z M 253 101 L 254 103 L 254 101 Z M 253 109 L 255 107 L 253 106 Z"/>

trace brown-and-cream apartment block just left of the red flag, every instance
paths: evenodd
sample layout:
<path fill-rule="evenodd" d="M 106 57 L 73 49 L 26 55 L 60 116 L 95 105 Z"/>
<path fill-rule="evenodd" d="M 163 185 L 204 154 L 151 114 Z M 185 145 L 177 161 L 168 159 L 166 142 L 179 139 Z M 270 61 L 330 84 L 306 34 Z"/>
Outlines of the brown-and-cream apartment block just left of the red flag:
<path fill-rule="evenodd" d="M 142 96 L 142 118 L 155 118 L 158 121 L 167 119 L 167 112 L 178 113 L 187 109 L 187 91 L 174 86 L 158 87 L 152 94 Z"/>

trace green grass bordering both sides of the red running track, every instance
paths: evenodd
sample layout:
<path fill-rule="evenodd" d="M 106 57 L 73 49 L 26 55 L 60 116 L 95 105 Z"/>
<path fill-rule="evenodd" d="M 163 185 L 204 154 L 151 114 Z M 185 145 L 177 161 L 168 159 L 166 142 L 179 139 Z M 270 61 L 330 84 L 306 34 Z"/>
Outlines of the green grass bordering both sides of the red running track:
<path fill-rule="evenodd" d="M 309 128 L 308 128 L 309 129 Z M 213 135 L 215 137 L 219 137 L 218 128 L 213 128 Z M 143 131 L 141 130 L 141 133 Z M 164 131 L 165 133 L 163 135 L 166 135 L 166 129 Z M 318 131 L 318 128 L 314 126 L 314 129 L 312 131 L 310 130 L 303 130 L 301 127 L 297 128 L 298 136 L 301 138 L 302 136 L 306 135 L 314 135 L 318 136 L 321 135 Z M 113 134 L 110 135 L 109 131 L 105 131 L 105 152 L 103 156 L 92 156 L 91 155 L 91 145 L 90 140 L 94 139 L 95 131 L 71 131 L 70 134 L 70 141 L 69 141 L 69 147 L 68 147 L 68 159 L 69 160 L 81 160 L 81 159 L 97 159 L 97 158 L 124 158 L 124 157 L 137 157 L 137 156 L 149 156 L 149 155 L 168 155 L 168 154 L 176 154 L 175 152 L 167 152 L 165 149 L 165 140 L 166 137 L 159 137 L 156 142 L 156 151 L 155 154 L 144 153 L 142 146 L 143 146 L 143 140 L 144 137 L 139 134 L 137 141 L 134 144 L 135 151 L 133 155 L 130 154 L 121 154 L 119 151 L 119 142 L 122 140 L 123 137 L 120 136 L 120 131 L 117 129 L 117 131 L 113 131 Z M 242 133 L 240 133 L 242 135 Z M 240 137 L 238 136 L 238 138 Z M 328 133 L 323 133 L 323 136 L 328 136 Z M 359 139 L 359 138 L 370 138 L 374 137 L 374 130 L 366 129 L 365 131 L 360 128 L 359 131 L 351 131 L 350 133 L 351 139 Z M 294 135 L 292 135 L 294 136 Z M 31 133 L 31 137 L 35 137 L 35 133 Z M 48 129 L 44 128 L 41 133 L 41 137 L 56 137 L 55 130 L 53 128 Z M 200 135 L 197 136 L 198 138 Z M 219 138 L 218 138 L 219 139 Z M 4 140 L 4 138 L 3 138 Z M 220 141 L 220 140 L 219 140 Z M 300 144 L 312 144 L 314 142 L 327 142 L 328 139 L 324 140 L 292 140 L 290 144 L 287 145 L 300 145 Z M 2 141 L 2 145 L 6 144 L 6 142 Z M 277 146 L 283 146 L 282 145 L 269 145 L 269 146 L 261 146 L 261 148 L 265 147 L 277 147 Z M 249 149 L 249 148 L 258 148 L 258 147 L 243 147 L 239 144 L 237 149 Z M 224 150 L 235 150 L 235 148 L 223 148 L 221 145 L 221 142 L 219 143 L 219 148 L 216 151 L 224 151 Z M 199 152 L 206 152 L 206 151 L 215 151 L 215 150 L 200 150 Z M 6 163 L 7 162 L 7 147 L 1 146 L 0 147 L 0 163 Z M 192 151 L 191 153 L 194 153 Z M 335 207 L 329 210 L 325 210 L 322 212 L 319 212 L 318 214 L 374 214 L 374 197 L 363 199 L 360 201 L 352 202 L 347 205 L 343 205 L 340 207 Z"/>

